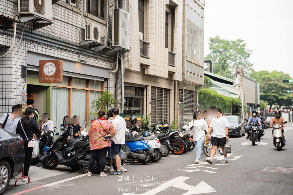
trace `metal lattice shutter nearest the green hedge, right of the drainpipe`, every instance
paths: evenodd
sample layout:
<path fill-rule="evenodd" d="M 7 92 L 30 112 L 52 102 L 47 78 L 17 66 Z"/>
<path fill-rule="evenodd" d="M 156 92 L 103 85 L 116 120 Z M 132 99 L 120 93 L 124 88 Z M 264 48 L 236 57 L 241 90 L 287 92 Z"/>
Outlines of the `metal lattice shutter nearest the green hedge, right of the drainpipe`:
<path fill-rule="evenodd" d="M 193 120 L 193 113 L 195 111 L 195 91 L 183 90 L 183 111 L 184 111 L 184 125 L 189 125 L 188 122 Z"/>

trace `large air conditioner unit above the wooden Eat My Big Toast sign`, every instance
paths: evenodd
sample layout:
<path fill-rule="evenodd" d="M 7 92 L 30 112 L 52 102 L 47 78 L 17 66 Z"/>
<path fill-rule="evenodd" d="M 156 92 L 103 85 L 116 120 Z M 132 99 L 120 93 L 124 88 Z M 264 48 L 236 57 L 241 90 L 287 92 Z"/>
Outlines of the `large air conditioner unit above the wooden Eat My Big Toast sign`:
<path fill-rule="evenodd" d="M 22 15 L 52 20 L 52 0 L 18 0 L 18 10 Z"/>

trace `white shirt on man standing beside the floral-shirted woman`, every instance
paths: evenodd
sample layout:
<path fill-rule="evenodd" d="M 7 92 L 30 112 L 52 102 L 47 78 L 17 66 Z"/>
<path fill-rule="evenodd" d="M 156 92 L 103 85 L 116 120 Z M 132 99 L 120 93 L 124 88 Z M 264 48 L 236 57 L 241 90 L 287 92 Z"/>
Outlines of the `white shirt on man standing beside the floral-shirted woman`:
<path fill-rule="evenodd" d="M 111 137 L 112 141 L 114 141 L 115 144 L 125 144 L 125 127 L 126 122 L 124 118 L 121 116 L 116 116 L 116 118 L 112 121 L 112 124 L 117 130 L 117 134 L 113 135 Z"/>

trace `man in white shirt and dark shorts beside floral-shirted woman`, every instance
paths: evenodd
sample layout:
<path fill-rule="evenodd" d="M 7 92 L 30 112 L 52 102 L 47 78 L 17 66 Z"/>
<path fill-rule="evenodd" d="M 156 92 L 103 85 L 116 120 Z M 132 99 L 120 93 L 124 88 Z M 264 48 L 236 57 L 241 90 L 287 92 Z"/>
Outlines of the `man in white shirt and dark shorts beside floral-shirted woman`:
<path fill-rule="evenodd" d="M 119 151 L 121 150 L 122 145 L 125 144 L 126 122 L 124 118 L 119 116 L 119 113 L 120 113 L 119 108 L 117 107 L 112 108 L 112 113 L 115 117 L 112 124 L 116 128 L 117 133 L 111 137 L 111 140 L 113 141 L 113 143 L 111 143 L 111 150 L 112 150 L 112 155 L 115 156 L 117 170 L 110 173 L 111 175 L 121 175 L 121 159 L 119 157 Z"/>

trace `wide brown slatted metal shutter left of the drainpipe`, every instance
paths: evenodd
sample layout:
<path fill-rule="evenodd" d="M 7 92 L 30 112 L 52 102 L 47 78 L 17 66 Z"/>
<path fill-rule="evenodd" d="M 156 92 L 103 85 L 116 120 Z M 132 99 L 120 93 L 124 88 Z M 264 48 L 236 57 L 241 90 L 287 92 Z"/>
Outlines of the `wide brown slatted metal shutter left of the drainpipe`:
<path fill-rule="evenodd" d="M 170 91 L 169 89 L 151 87 L 151 124 L 158 121 L 170 122 Z"/>

